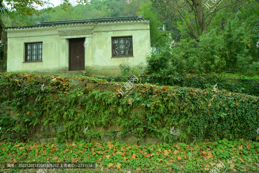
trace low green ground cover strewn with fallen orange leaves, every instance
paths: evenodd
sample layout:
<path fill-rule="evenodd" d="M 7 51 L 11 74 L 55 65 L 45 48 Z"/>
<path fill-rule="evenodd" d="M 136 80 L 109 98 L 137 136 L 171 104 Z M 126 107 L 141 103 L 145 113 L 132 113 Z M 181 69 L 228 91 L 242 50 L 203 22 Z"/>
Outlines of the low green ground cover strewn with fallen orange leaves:
<path fill-rule="evenodd" d="M 227 171 L 258 171 L 259 143 L 243 139 L 198 144 L 128 145 L 119 142 L 24 143 L 0 141 L 0 164 L 5 162 L 95 162 L 95 169 L 55 169 L 52 173 L 93 172 L 209 172 L 221 161 Z M 37 172 L 4 169 L 0 172 Z"/>

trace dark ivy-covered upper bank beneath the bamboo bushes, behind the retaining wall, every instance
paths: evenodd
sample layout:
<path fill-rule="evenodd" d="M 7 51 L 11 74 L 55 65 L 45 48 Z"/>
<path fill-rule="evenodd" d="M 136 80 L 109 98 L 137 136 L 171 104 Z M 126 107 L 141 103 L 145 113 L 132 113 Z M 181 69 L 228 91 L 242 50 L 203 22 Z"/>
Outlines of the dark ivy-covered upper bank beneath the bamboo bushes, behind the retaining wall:
<path fill-rule="evenodd" d="M 193 87 L 199 89 L 212 90 L 213 86 L 217 83 L 218 90 L 226 90 L 230 92 L 245 93 L 248 95 L 259 96 L 259 76 L 243 76 L 235 74 L 222 73 L 218 74 L 178 74 L 175 72 L 173 75 L 163 74 L 165 70 L 160 73 L 153 73 L 151 75 L 140 76 L 142 83 L 146 84 L 163 84 L 163 85 L 177 85 L 181 87 Z M 115 77 L 108 78 L 108 81 L 127 82 L 129 78 Z"/>

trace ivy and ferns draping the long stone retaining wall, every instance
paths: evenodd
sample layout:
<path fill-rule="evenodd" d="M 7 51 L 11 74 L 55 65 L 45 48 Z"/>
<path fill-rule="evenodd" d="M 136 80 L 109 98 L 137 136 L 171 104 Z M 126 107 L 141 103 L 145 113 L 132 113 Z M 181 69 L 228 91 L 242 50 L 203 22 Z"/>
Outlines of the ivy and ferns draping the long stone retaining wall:
<path fill-rule="evenodd" d="M 84 134 L 83 129 L 91 125 L 107 127 L 113 122 L 123 127 L 122 137 L 132 133 L 139 139 L 157 137 L 175 141 L 168 130 L 172 127 L 180 129 L 178 139 L 182 141 L 201 140 L 204 136 L 256 138 L 259 97 L 223 89 L 158 88 L 139 84 L 134 93 L 124 98 L 117 92 L 83 87 L 89 82 L 101 87 L 115 84 L 116 88 L 123 84 L 87 77 L 80 79 L 81 83 L 73 89 L 73 79 L 2 73 L 1 109 L 12 110 L 1 114 L 2 130 L 26 140 L 41 125 L 49 125 L 58 128 L 60 141 L 100 139 L 104 133 L 88 128 L 89 133 Z M 41 91 L 43 83 L 46 88 Z M 141 112 L 144 120 L 133 110 L 140 106 L 145 108 Z M 131 117 L 132 114 L 135 116 Z M 60 130 L 60 126 L 64 126 L 64 130 Z"/>

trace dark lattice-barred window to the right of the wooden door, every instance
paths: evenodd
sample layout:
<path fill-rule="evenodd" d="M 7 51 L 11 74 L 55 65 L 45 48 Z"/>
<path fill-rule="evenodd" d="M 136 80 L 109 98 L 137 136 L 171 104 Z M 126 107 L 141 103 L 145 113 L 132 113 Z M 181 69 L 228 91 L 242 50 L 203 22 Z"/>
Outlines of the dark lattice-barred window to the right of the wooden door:
<path fill-rule="evenodd" d="M 132 57 L 132 36 L 112 38 L 112 57 Z"/>

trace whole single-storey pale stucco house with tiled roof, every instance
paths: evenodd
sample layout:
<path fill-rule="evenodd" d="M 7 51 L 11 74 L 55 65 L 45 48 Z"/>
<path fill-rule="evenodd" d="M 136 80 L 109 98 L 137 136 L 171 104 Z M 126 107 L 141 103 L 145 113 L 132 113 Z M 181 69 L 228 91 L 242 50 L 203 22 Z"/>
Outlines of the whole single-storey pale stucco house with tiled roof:
<path fill-rule="evenodd" d="M 146 64 L 150 19 L 141 16 L 37 22 L 6 27 L 7 72 L 120 73 L 123 61 Z"/>

